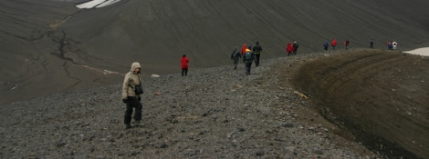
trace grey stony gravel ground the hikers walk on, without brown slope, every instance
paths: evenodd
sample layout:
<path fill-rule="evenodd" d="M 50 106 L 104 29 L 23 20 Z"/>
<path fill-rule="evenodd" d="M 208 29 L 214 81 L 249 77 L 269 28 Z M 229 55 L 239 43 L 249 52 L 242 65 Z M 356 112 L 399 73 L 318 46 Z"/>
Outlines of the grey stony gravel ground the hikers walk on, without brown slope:
<path fill-rule="evenodd" d="M 373 158 L 311 113 L 274 69 L 308 56 L 144 75 L 142 127 L 125 129 L 121 84 L 1 105 L 1 158 Z M 285 67 L 285 69 L 287 69 Z M 313 122 L 311 122 L 313 121 Z"/>

